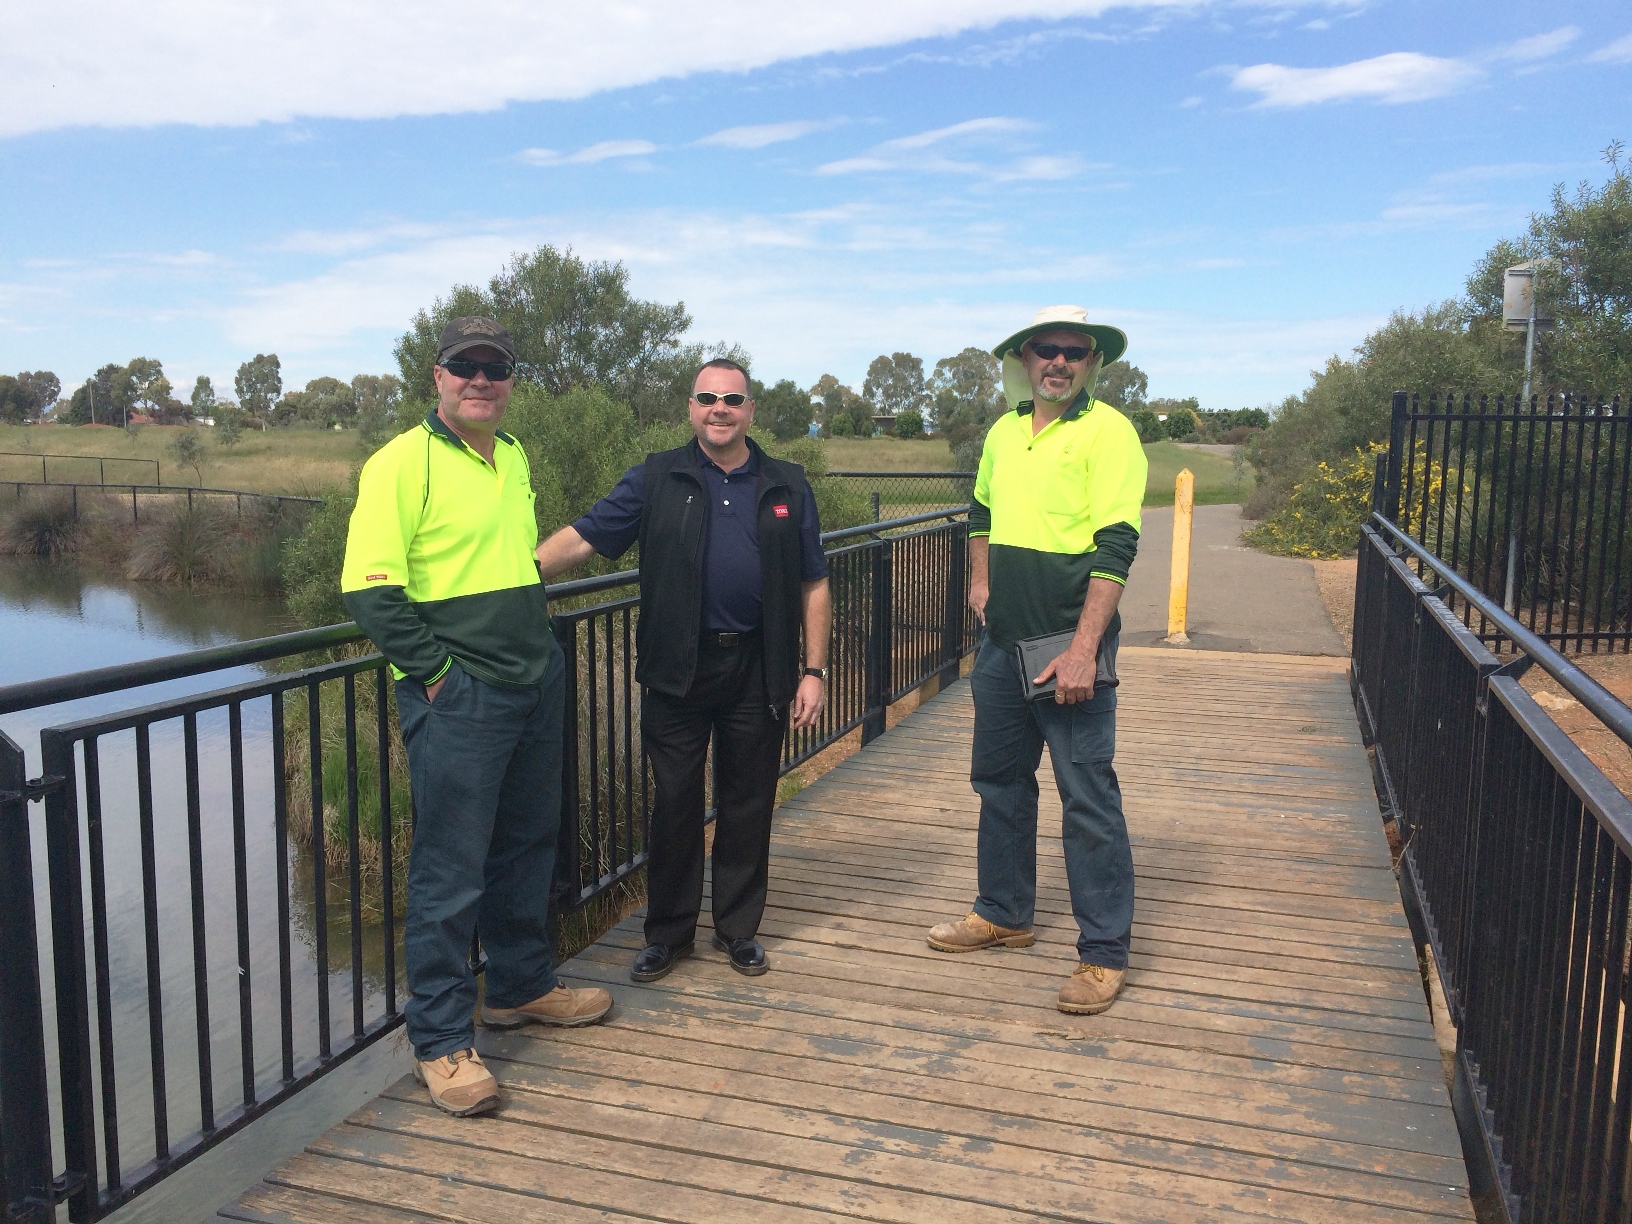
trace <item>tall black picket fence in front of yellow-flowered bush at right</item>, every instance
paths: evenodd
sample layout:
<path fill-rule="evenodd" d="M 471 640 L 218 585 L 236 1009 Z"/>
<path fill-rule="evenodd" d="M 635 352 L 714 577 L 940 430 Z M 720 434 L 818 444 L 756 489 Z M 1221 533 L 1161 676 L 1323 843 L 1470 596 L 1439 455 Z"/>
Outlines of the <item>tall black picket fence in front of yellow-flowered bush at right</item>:
<path fill-rule="evenodd" d="M 1632 650 L 1629 490 L 1621 397 L 1394 395 L 1377 509 L 1563 650 Z"/>

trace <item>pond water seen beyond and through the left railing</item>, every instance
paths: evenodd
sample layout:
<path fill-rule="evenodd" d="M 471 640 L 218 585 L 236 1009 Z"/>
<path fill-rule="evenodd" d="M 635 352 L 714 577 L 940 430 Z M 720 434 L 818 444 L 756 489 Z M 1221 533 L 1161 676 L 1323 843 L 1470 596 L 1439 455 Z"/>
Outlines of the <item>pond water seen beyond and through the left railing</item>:
<path fill-rule="evenodd" d="M 36 558 L 0 558 L 0 684 L 59 676 L 88 667 L 134 663 L 204 646 L 266 636 L 295 628 L 277 601 L 196 591 L 163 584 L 122 583 L 103 573 Z M 224 689 L 261 677 L 261 666 L 245 666 L 209 676 L 186 677 L 140 690 L 109 694 L 39 710 L 0 716 L 0 731 L 28 756 L 29 775 L 41 772 L 41 728 L 73 723 L 93 715 L 131 710 L 153 702 Z M 206 911 L 206 963 L 211 1054 L 209 1082 L 215 1113 L 243 1102 L 240 986 L 246 981 L 253 1022 L 253 1066 L 258 1095 L 277 1087 L 282 1054 L 279 1043 L 277 955 L 277 849 L 271 813 L 271 700 L 243 705 L 243 770 L 246 792 L 246 876 L 250 963 L 238 965 L 233 888 L 232 792 L 225 712 L 197 718 L 199 796 L 202 811 L 202 878 Z M 145 893 L 140 871 L 140 826 L 135 788 L 135 736 L 131 731 L 101 736 L 96 746 L 103 796 L 103 852 L 108 894 L 109 1020 L 113 1028 L 118 1098 L 119 1164 L 131 1170 L 153 1157 L 160 1124 L 171 1141 L 196 1131 L 201 1120 L 199 1031 L 196 1022 L 193 898 L 189 885 L 186 785 L 181 720 L 155 723 L 150 731 L 153 777 L 153 896 L 158 950 L 158 1012 L 163 1043 L 155 1051 L 149 1035 L 153 1007 L 147 974 Z M 82 831 L 85 827 L 85 772 L 80 759 Z M 46 996 L 46 1036 L 51 1064 L 52 1108 L 57 1102 L 55 1015 L 52 1009 L 52 960 L 46 885 L 46 834 L 42 805 L 31 805 L 34 886 L 41 922 L 41 986 Z M 82 836 L 86 863 L 86 919 L 90 917 L 90 844 Z M 317 1054 L 318 974 L 310 855 L 289 849 L 290 880 L 290 987 L 295 1062 Z M 351 1031 L 353 984 L 346 924 L 346 881 L 326 889 L 331 1017 L 336 1043 Z M 88 927 L 86 927 L 88 932 Z M 380 1012 L 379 929 L 366 934 L 366 1010 Z M 86 934 L 86 961 L 91 942 Z M 400 965 L 400 963 L 398 963 Z M 400 968 L 398 968 L 400 974 Z M 398 994 L 398 997 L 401 997 Z M 98 1059 L 98 1018 L 91 989 L 91 1051 Z M 168 1106 L 153 1103 L 153 1071 L 162 1067 Z M 98 1106 L 109 1085 L 96 1072 Z M 100 1110 L 98 1110 L 100 1111 Z M 101 1126 L 101 1118 L 98 1118 Z M 98 1134 L 98 1151 L 104 1136 Z M 62 1159 L 59 1152 L 59 1162 Z M 60 1167 L 60 1164 L 59 1164 Z"/>

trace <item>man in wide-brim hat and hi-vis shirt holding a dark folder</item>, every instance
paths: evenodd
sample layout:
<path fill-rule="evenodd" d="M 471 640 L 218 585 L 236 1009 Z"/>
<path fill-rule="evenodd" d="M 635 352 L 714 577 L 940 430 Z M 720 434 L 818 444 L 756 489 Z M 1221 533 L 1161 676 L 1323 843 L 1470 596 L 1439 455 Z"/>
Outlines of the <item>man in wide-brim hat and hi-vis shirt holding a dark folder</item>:
<path fill-rule="evenodd" d="M 1111 756 L 1116 604 L 1139 547 L 1146 457 L 1128 418 L 1093 398 L 1098 372 L 1126 348 L 1080 307 L 1048 307 L 992 349 L 1010 411 L 986 436 L 969 512 L 969 605 L 986 623 L 969 676 L 979 896 L 966 919 L 929 934 L 940 951 L 1033 943 L 1046 743 L 1079 929 L 1059 1010 L 1082 1015 L 1115 1002 L 1133 932 L 1133 850 Z M 1028 700 L 1018 643 L 1064 633 L 1066 651 L 1031 677 L 1054 692 Z"/>

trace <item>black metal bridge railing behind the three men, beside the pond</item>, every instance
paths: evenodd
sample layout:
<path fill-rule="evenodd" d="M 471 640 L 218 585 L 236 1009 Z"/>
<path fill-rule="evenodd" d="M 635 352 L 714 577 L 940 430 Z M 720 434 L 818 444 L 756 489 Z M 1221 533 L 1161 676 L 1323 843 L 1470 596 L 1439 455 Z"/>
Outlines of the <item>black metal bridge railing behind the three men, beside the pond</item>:
<path fill-rule="evenodd" d="M 880 734 L 891 702 L 955 677 L 976 643 L 956 512 L 824 542 L 829 703 L 788 734 L 785 770 L 852 731 Z M 646 858 L 632 579 L 552 588 L 561 602 L 619 592 L 553 615 L 576 677 L 563 916 Z M 0 689 L 0 715 L 119 698 L 41 730 L 34 778 L 0 734 L 8 1219 L 52 1219 L 62 1201 L 70 1219 L 100 1219 L 401 1023 L 411 806 L 388 672 L 364 650 L 354 625 L 336 625 Z M 135 698 L 230 669 L 209 692 Z"/>

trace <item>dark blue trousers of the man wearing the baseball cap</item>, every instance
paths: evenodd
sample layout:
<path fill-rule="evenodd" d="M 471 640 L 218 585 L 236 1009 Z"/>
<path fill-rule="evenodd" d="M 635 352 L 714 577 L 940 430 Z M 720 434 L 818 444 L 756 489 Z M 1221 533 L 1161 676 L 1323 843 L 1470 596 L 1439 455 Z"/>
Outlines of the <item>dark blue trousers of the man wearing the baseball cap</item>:
<path fill-rule="evenodd" d="M 537 689 L 499 689 L 457 663 L 434 702 L 418 681 L 397 682 L 415 805 L 403 1012 L 421 1061 L 475 1044 L 478 925 L 490 1004 L 521 1007 L 557 984 L 550 891 L 566 666 L 550 650 Z"/>

